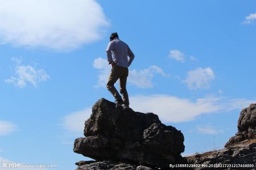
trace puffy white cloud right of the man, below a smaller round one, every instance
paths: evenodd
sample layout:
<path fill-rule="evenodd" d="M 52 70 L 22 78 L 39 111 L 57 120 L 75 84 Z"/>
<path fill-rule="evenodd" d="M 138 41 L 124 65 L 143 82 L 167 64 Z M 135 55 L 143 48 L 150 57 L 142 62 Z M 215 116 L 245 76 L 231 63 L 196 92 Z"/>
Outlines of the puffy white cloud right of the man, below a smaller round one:
<path fill-rule="evenodd" d="M 214 80 L 215 76 L 213 70 L 210 67 L 201 68 L 188 72 L 187 78 L 184 80 L 188 84 L 188 87 L 192 90 L 199 88 L 209 88 L 209 82 Z"/>

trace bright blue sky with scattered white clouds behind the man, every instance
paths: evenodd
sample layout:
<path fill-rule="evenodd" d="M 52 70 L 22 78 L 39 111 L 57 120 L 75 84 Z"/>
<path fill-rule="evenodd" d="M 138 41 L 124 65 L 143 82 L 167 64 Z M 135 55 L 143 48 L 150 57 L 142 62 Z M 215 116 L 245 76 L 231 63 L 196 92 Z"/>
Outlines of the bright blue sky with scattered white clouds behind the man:
<path fill-rule="evenodd" d="M 130 107 L 222 148 L 256 99 L 255 1 L 0 1 L 0 162 L 75 169 L 105 84 L 111 32 L 129 44 Z M 116 84 L 118 87 L 118 83 Z M 2 165 L 0 165 L 2 169 Z"/>

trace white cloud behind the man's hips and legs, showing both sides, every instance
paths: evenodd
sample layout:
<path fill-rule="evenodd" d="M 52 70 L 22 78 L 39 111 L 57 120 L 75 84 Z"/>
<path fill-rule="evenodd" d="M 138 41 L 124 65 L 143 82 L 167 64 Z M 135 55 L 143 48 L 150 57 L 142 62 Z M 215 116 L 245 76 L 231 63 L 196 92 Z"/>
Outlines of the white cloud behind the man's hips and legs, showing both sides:
<path fill-rule="evenodd" d="M 108 64 L 108 61 L 106 59 L 99 57 L 97 59 L 94 59 L 93 67 L 100 70 L 97 86 L 105 87 L 106 83 L 108 82 L 111 66 Z M 153 65 L 143 70 L 129 70 L 129 77 L 127 79 L 127 82 L 134 84 L 139 88 L 150 88 L 153 87 L 152 79 L 154 78 L 156 73 L 162 76 L 170 76 L 164 73 L 164 71 L 160 67 Z"/>

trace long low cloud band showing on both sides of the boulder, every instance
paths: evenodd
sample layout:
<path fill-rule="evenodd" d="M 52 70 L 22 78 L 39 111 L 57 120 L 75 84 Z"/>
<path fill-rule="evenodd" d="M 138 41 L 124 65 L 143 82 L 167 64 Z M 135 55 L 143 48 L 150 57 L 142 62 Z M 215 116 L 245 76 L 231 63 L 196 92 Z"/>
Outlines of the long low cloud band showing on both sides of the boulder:
<path fill-rule="evenodd" d="M 137 112 L 158 114 L 160 120 L 163 122 L 185 122 L 195 120 L 201 114 L 230 112 L 235 109 L 243 109 L 255 101 L 243 98 L 229 99 L 218 96 L 205 96 L 191 100 L 170 95 L 138 95 L 130 97 L 130 107 Z M 84 130 L 84 122 L 90 117 L 91 113 L 92 109 L 90 107 L 82 111 L 70 113 L 63 118 L 61 126 L 63 126 L 69 135 L 81 135 Z M 198 127 L 198 129 L 203 128 L 203 126 Z M 207 127 L 208 131 L 210 131 L 211 127 Z M 217 132 L 220 133 L 221 131 L 217 130 Z"/>

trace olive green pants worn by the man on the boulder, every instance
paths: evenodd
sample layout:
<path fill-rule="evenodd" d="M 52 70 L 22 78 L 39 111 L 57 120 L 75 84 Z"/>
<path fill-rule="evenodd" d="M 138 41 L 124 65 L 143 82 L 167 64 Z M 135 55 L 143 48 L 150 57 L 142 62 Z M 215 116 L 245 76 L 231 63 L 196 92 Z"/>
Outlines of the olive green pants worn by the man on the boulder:
<path fill-rule="evenodd" d="M 115 97 L 115 100 L 119 100 L 122 99 L 122 97 L 119 95 L 117 89 L 114 87 L 114 83 L 117 82 L 117 80 L 119 79 L 120 93 L 122 94 L 123 102 L 126 105 L 129 105 L 129 97 L 126 90 L 128 72 L 129 70 L 127 67 L 114 66 L 111 70 L 111 73 L 109 75 L 109 81 L 107 83 L 107 88 L 110 93 Z"/>

